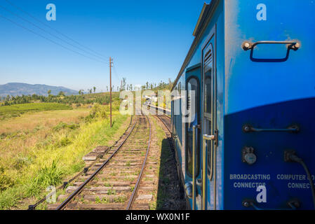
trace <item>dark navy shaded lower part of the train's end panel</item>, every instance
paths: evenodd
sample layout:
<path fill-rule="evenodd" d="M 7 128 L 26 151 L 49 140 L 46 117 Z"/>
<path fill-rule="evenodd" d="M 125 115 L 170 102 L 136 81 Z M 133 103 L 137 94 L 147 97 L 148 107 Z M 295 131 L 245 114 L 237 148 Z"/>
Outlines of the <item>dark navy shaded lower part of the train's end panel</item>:
<path fill-rule="evenodd" d="M 289 113 L 288 113 L 289 111 Z M 309 113 L 312 112 L 312 113 Z M 307 176 L 301 165 L 284 162 L 284 151 L 295 150 L 315 174 L 315 98 L 260 106 L 255 109 L 230 114 L 225 118 L 225 209 L 244 209 L 242 201 L 256 201 L 257 183 L 267 188 L 267 202 L 260 203 L 265 209 L 286 209 L 288 201 L 297 199 L 302 209 L 314 209 Z M 283 128 L 298 124 L 300 132 L 242 132 L 242 126 Z M 241 162 L 241 149 L 255 149 L 257 162 L 248 165 Z M 248 175 L 246 179 L 242 176 Z M 284 175 L 296 174 L 298 179 L 283 179 Z M 235 176 L 236 175 L 236 176 Z M 255 176 L 256 175 L 256 176 Z M 260 178 L 257 175 L 265 175 Z M 301 179 L 301 180 L 300 180 Z M 247 186 L 241 186 L 243 183 Z M 249 183 L 251 186 L 249 186 Z M 296 185 L 293 188 L 293 185 Z M 302 185 L 301 185 L 302 184 Z M 303 187 L 303 188 L 299 188 Z M 305 188 L 304 188 L 305 187 Z M 256 202 L 257 203 L 257 202 Z M 258 203 L 257 203 L 258 204 Z"/>

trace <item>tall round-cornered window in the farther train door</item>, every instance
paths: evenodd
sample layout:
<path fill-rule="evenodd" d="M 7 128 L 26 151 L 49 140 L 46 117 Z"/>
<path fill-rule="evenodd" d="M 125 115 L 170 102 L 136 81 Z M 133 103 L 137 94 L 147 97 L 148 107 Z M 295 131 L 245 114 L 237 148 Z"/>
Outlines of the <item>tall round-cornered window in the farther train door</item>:
<path fill-rule="evenodd" d="M 192 176 L 192 144 L 193 144 L 193 126 L 199 124 L 199 81 L 197 78 L 192 77 L 187 80 L 187 110 L 190 111 L 192 102 L 194 102 L 194 116 L 189 123 L 186 123 L 186 167 L 187 174 Z M 189 91 L 195 91 L 194 99 L 190 99 Z M 196 176 L 199 175 L 199 130 L 196 129 Z"/>

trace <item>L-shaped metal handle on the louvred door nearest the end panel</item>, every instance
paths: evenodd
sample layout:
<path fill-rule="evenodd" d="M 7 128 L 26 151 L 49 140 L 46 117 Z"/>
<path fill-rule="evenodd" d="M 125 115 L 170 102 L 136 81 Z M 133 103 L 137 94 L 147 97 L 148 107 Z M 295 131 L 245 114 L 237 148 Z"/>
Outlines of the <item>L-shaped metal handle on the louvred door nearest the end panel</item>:
<path fill-rule="evenodd" d="M 215 140 L 215 135 L 208 135 L 208 134 L 203 134 L 203 142 L 202 142 L 202 204 L 201 204 L 201 209 L 206 209 L 206 141 L 213 141 Z M 212 152 L 213 148 L 211 147 L 210 151 L 210 156 L 211 156 L 211 166 L 210 166 L 210 175 L 212 176 L 213 173 L 213 167 L 212 167 Z"/>

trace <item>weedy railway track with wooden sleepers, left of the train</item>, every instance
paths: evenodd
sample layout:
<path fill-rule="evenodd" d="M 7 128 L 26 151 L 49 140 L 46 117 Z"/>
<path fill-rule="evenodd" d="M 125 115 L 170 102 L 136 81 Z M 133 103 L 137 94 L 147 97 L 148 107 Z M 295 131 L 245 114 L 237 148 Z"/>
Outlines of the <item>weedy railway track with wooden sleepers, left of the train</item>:
<path fill-rule="evenodd" d="M 107 154 L 58 197 L 62 202 L 48 209 L 149 209 L 141 199 L 151 188 L 140 183 L 146 165 L 154 165 L 147 162 L 151 125 L 147 116 L 135 116 L 132 123 Z"/>

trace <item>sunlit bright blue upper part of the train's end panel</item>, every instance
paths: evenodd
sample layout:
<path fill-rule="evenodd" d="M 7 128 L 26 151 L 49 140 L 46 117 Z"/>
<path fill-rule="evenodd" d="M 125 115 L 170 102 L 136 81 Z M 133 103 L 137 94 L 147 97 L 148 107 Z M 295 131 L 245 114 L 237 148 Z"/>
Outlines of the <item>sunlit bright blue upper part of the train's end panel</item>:
<path fill-rule="evenodd" d="M 315 95 L 315 2 L 311 0 L 229 0 L 225 3 L 227 78 L 226 113 Z M 267 20 L 258 21 L 257 5 L 267 7 Z M 298 40 L 286 62 L 252 62 L 243 41 Z M 259 45 L 255 57 L 279 58 L 286 45 Z"/>

